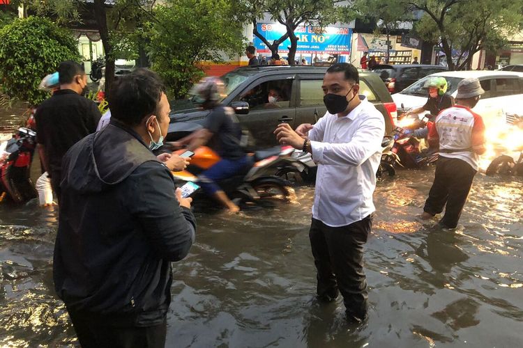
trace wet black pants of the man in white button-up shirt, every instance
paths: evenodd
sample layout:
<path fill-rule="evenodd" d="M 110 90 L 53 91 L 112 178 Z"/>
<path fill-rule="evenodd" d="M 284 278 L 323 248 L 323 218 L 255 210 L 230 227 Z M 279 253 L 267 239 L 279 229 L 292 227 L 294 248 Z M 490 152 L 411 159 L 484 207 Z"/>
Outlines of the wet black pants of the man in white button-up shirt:
<path fill-rule="evenodd" d="M 342 227 L 330 227 L 312 219 L 309 232 L 319 299 L 335 299 L 338 291 L 341 292 L 347 316 L 358 319 L 367 314 L 363 244 L 367 242 L 371 227 L 371 216 Z"/>

